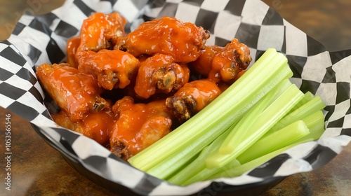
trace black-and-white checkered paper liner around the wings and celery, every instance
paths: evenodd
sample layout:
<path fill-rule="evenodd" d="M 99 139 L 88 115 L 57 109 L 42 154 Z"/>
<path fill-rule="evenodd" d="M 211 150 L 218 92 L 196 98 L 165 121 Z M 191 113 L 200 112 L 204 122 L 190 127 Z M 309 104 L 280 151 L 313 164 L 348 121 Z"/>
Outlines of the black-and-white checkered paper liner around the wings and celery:
<path fill-rule="evenodd" d="M 44 105 L 47 97 L 35 76 L 36 66 L 64 62 L 67 39 L 79 34 L 82 21 L 93 12 L 112 11 L 128 20 L 126 31 L 165 15 L 194 22 L 211 31 L 208 45 L 225 45 L 238 38 L 249 46 L 253 62 L 267 48 L 276 48 L 289 59 L 291 81 L 325 102 L 326 131 L 321 139 L 295 146 L 242 176 L 214 182 L 241 186 L 311 171 L 325 165 L 350 142 L 351 50 L 326 51 L 262 1 L 67 0 L 46 15 L 22 16 L 11 37 L 0 42 L 0 106 L 29 120 L 49 144 L 90 172 L 141 195 L 205 193 L 213 183 L 175 186 L 161 181 L 131 167 L 92 139 L 51 120 L 51 106 Z"/>

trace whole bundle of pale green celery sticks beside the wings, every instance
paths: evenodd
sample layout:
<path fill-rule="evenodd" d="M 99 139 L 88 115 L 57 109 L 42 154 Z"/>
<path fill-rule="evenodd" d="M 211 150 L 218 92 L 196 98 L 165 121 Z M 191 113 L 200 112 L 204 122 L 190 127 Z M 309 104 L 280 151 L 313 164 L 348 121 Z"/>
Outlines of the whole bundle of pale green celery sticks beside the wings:
<path fill-rule="evenodd" d="M 301 92 L 282 53 L 269 48 L 225 92 L 128 162 L 187 186 L 233 177 L 324 132 L 325 104 Z"/>

